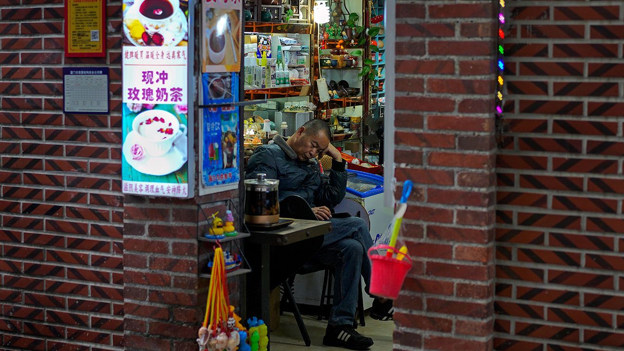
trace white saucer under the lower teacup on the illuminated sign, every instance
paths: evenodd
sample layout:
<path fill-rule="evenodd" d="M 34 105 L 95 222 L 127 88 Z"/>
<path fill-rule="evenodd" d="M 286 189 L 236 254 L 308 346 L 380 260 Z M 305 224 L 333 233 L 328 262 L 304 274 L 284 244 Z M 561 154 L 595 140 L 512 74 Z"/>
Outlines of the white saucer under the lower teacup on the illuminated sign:
<path fill-rule="evenodd" d="M 132 159 L 130 147 L 137 144 L 136 133 L 129 132 L 125 137 L 122 153 L 125 161 L 135 170 L 149 175 L 167 175 L 178 171 L 187 162 L 187 136 L 179 136 L 173 141 L 173 147 L 163 156 L 149 156 L 147 153 L 139 160 Z"/>

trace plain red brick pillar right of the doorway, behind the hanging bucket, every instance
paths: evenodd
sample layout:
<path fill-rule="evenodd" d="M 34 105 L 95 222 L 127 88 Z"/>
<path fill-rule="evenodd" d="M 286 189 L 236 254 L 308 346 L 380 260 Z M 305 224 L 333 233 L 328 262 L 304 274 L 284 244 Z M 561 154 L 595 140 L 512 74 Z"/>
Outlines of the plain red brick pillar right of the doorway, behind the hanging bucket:
<path fill-rule="evenodd" d="M 492 349 L 497 5 L 396 5 L 394 162 L 399 185 L 414 182 L 402 233 L 415 262 L 395 350 Z"/>

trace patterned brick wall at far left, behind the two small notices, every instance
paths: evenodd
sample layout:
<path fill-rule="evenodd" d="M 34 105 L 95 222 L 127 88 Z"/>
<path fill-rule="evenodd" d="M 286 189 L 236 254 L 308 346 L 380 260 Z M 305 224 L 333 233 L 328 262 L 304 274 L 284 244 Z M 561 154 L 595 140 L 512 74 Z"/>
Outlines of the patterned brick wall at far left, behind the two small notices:
<path fill-rule="evenodd" d="M 122 350 L 120 2 L 102 59 L 64 57 L 62 0 L 0 5 L 0 344 Z M 110 67 L 110 116 L 62 114 L 63 66 Z"/>

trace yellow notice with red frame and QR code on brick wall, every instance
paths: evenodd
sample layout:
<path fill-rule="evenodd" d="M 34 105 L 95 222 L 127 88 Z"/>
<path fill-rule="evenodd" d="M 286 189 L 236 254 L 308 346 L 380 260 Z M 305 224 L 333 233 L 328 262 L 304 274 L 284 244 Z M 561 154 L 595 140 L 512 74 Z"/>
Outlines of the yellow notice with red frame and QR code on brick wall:
<path fill-rule="evenodd" d="M 65 2 L 65 56 L 105 57 L 104 0 Z"/>

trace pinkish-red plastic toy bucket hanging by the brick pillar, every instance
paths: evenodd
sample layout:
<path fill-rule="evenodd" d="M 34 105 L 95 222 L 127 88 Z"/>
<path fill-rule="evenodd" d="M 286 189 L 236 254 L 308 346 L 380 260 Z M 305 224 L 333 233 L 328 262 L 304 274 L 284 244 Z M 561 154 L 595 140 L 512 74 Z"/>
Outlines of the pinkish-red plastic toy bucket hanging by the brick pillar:
<path fill-rule="evenodd" d="M 372 250 L 379 249 L 392 250 L 394 253 L 391 257 L 386 257 L 385 252 L 383 255 L 371 254 Z M 378 245 L 368 250 L 368 257 L 373 265 L 369 287 L 371 295 L 392 300 L 399 297 L 407 272 L 412 268 L 412 259 L 406 254 L 402 260 L 397 260 L 397 252 L 396 248 L 388 245 Z"/>

